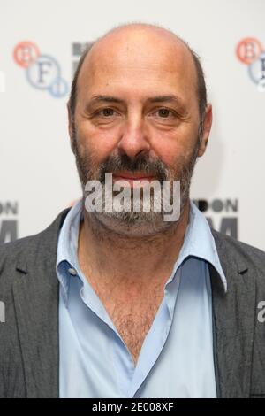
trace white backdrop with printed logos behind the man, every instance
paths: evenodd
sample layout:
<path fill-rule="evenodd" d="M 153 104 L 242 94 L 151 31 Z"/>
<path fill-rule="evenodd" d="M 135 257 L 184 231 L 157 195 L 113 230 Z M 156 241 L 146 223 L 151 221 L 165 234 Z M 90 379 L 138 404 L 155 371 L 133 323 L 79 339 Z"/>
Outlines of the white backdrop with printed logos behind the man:
<path fill-rule="evenodd" d="M 265 47 L 265 0 L 0 0 L 0 19 L 0 242 L 41 231 L 80 196 L 65 85 L 86 42 L 117 24 L 144 21 L 189 42 L 206 73 L 214 125 L 192 197 L 206 201 L 216 229 L 235 235 L 238 227 L 239 240 L 265 250 L 265 91 L 255 83 L 265 78 L 258 46 Z M 250 37 L 239 50 L 253 62 L 246 65 L 236 48 Z M 19 44 L 26 41 L 59 66 L 64 81 L 53 94 L 63 96 L 36 88 L 53 64 L 41 75 L 21 66 L 27 51 Z"/>

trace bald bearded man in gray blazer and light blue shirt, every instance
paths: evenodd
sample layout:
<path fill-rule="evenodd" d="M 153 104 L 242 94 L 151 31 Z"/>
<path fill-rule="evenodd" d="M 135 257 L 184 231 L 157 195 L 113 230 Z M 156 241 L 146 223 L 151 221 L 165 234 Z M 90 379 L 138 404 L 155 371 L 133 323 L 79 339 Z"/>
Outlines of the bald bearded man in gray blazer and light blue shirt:
<path fill-rule="evenodd" d="M 80 59 L 68 110 L 83 198 L 1 247 L 0 396 L 264 396 L 265 255 L 189 200 L 212 121 L 199 59 L 161 27 L 117 27 Z M 110 173 L 93 210 L 87 184 Z M 149 212 L 110 204 L 115 185 L 153 181 L 170 182 L 178 219 L 155 190 Z"/>

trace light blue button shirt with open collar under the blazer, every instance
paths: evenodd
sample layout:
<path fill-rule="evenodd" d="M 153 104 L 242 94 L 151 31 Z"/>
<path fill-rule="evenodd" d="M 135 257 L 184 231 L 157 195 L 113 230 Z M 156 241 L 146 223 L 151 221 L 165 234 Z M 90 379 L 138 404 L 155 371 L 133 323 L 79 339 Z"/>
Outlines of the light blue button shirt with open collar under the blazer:
<path fill-rule="evenodd" d="M 191 203 L 178 260 L 137 365 L 79 268 L 82 202 L 67 214 L 57 246 L 60 397 L 216 397 L 208 263 L 226 280 L 208 222 Z"/>

